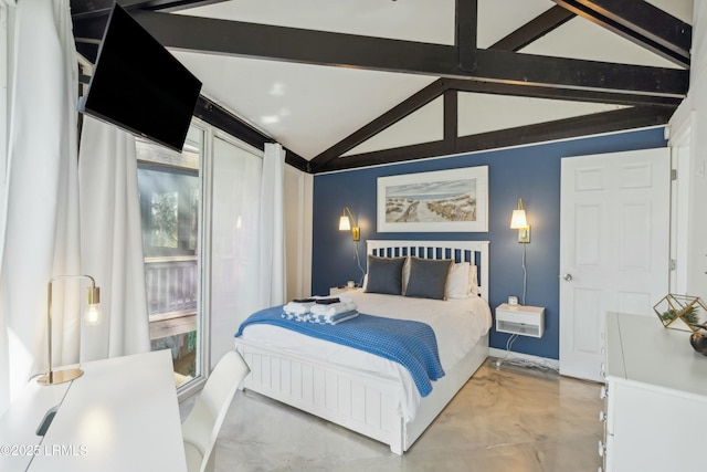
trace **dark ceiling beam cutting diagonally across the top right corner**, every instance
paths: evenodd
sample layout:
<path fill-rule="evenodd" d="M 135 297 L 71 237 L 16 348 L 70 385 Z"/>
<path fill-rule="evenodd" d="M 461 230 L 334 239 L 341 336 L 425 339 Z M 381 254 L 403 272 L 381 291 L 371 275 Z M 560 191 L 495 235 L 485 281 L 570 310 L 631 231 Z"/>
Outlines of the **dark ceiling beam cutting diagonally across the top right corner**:
<path fill-rule="evenodd" d="M 683 67 L 693 28 L 643 0 L 553 0 L 557 4 Z"/>

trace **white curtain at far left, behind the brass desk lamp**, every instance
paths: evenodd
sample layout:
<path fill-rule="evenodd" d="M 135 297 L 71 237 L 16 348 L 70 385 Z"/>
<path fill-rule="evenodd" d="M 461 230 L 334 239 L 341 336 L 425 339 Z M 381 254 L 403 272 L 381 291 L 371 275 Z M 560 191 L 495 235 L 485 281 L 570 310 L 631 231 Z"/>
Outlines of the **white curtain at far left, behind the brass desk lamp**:
<path fill-rule="evenodd" d="M 12 8 L 12 7 L 11 7 Z M 9 132 L 0 200 L 0 411 L 46 368 L 46 283 L 78 256 L 76 52 L 68 0 L 22 0 L 8 70 Z M 57 284 L 55 364 L 77 360 L 78 284 Z M 62 292 L 72 293 L 63 302 Z"/>

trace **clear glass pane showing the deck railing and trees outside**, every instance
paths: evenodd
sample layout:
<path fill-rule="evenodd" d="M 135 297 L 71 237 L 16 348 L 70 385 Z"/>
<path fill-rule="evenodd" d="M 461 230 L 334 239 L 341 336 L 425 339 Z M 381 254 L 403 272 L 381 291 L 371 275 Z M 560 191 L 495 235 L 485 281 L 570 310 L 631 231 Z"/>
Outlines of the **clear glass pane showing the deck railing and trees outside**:
<path fill-rule="evenodd" d="M 177 385 L 201 374 L 201 136 L 192 127 L 181 154 L 137 140 L 150 339 L 152 350 L 171 350 Z"/>

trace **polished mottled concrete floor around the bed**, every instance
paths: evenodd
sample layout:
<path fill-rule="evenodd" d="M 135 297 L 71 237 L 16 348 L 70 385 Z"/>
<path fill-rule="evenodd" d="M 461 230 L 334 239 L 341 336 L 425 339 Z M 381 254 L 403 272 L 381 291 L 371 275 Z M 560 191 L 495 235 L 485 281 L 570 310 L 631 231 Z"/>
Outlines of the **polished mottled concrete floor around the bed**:
<path fill-rule="evenodd" d="M 188 402 L 182 406 L 186 413 Z M 253 392 L 239 391 L 217 471 L 595 471 L 599 385 L 487 360 L 403 455 Z"/>

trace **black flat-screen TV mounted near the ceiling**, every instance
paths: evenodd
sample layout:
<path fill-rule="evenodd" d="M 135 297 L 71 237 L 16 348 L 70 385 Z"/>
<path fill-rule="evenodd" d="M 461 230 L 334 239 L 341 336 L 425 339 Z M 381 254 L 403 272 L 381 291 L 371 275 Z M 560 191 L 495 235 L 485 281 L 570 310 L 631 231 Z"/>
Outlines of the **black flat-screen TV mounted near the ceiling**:
<path fill-rule="evenodd" d="M 78 111 L 181 151 L 201 82 L 114 4 Z"/>

